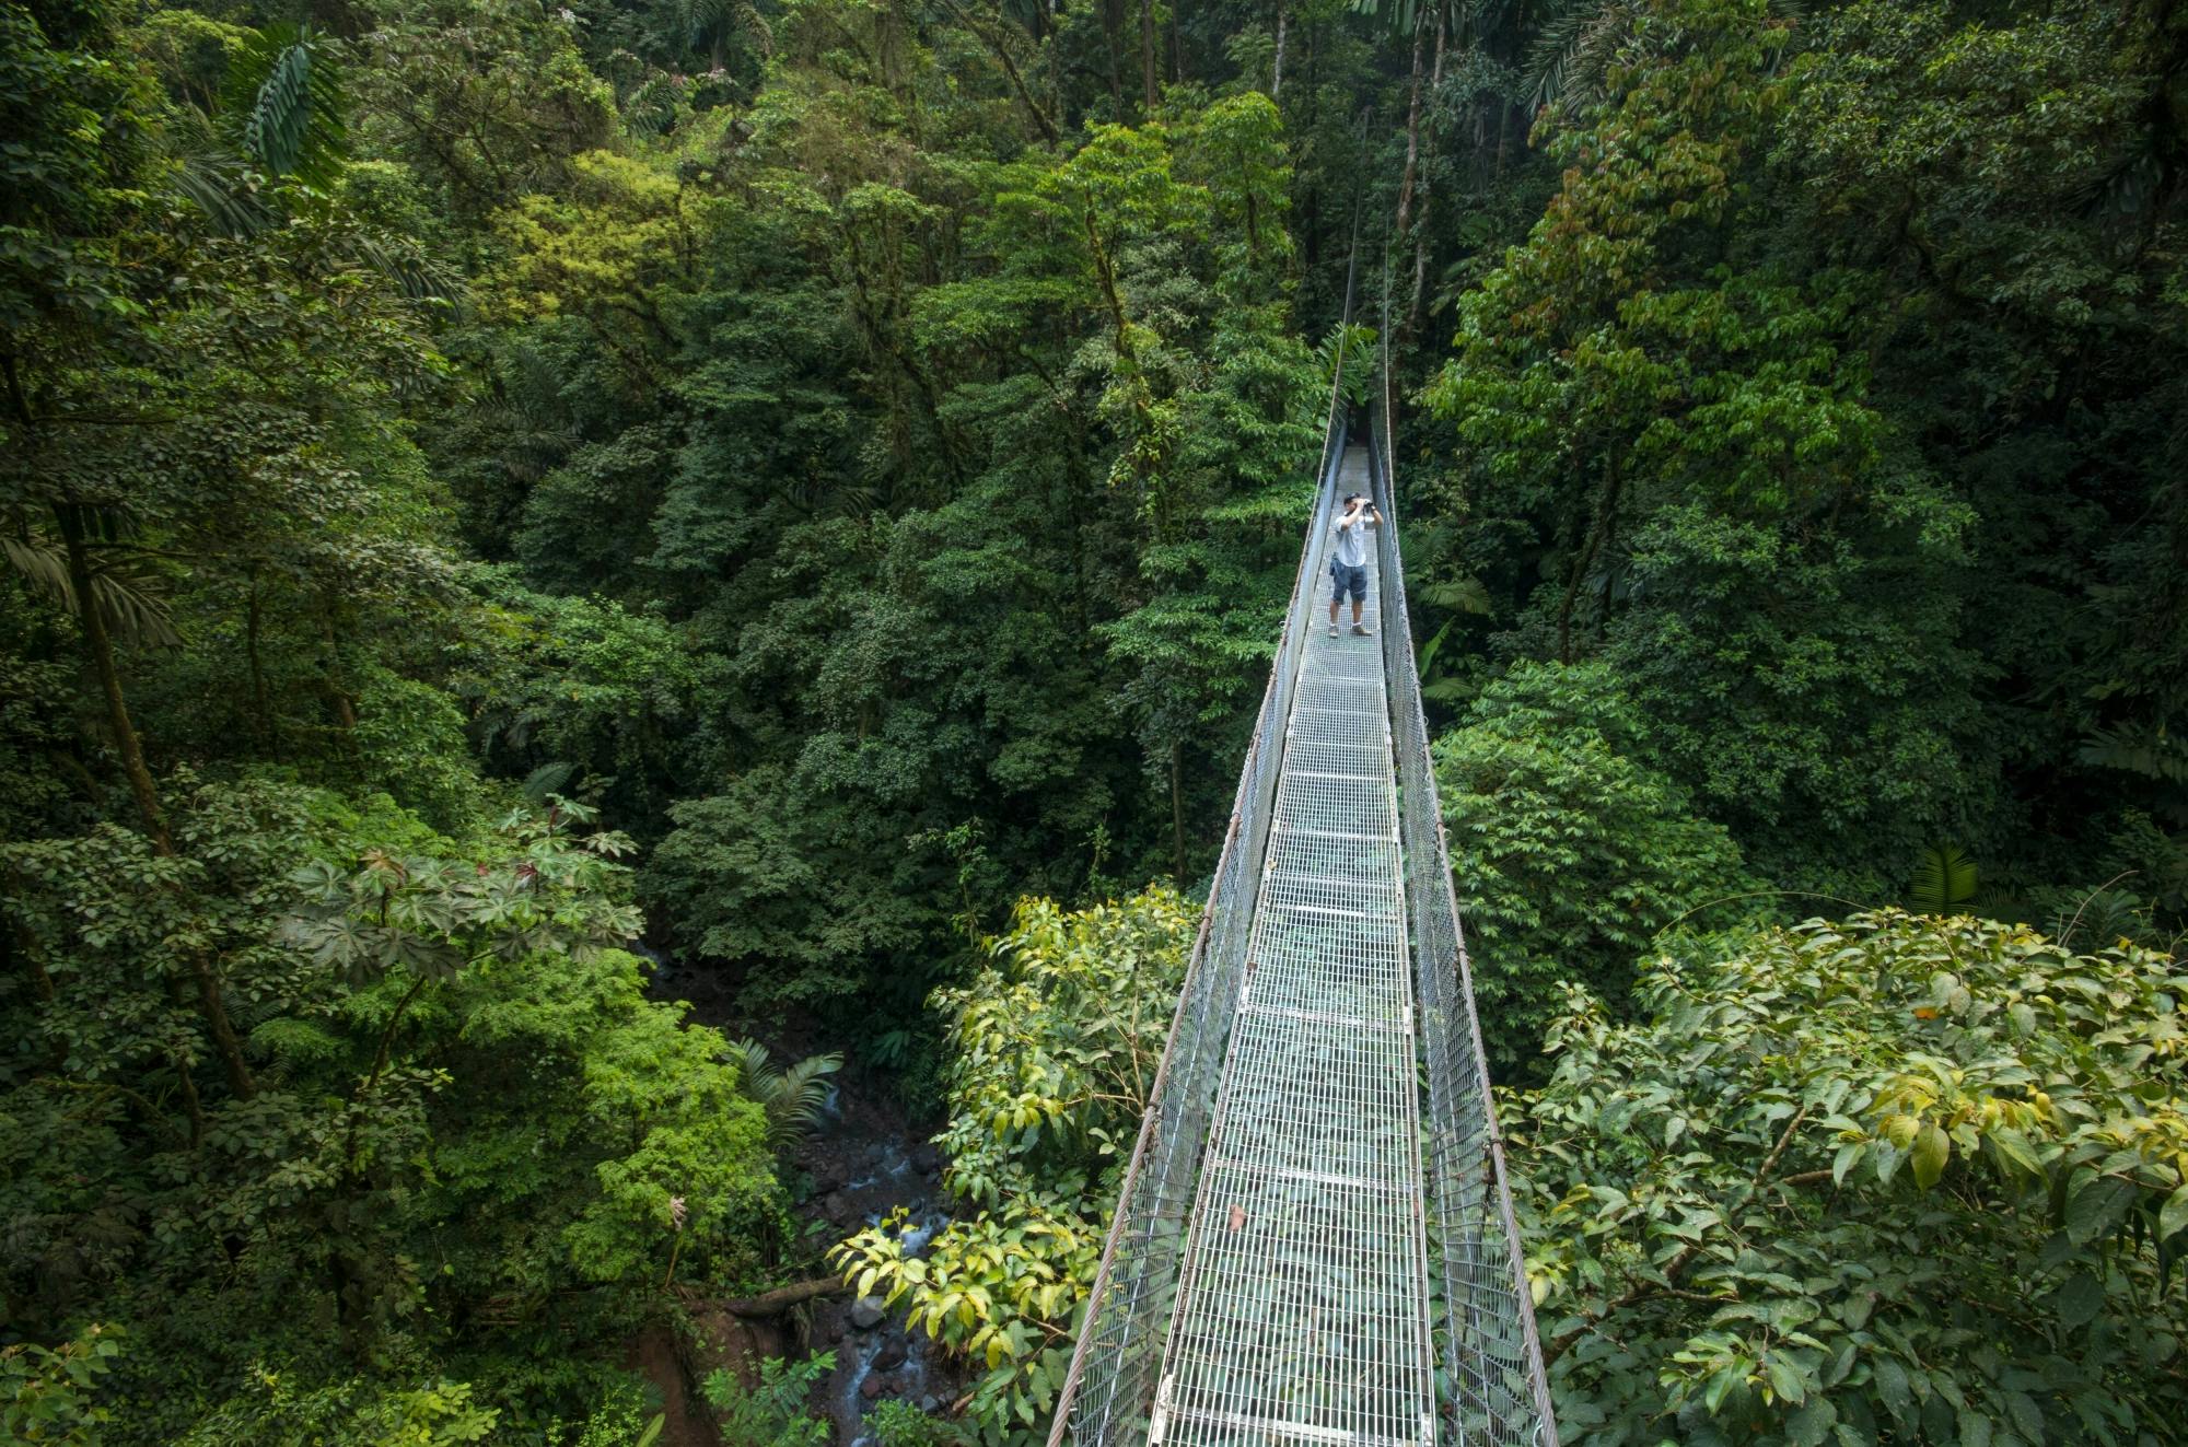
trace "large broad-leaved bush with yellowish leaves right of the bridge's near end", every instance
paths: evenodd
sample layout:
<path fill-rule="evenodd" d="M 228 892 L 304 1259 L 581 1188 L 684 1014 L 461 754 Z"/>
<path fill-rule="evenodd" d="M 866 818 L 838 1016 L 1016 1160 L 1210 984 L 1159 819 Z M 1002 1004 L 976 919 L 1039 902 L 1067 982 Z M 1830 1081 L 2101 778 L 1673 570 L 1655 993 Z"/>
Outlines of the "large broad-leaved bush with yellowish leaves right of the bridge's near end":
<path fill-rule="evenodd" d="M 1575 992 L 1514 1158 L 1560 1423 L 2166 1438 L 2184 986 L 2127 944 L 1882 914 L 1659 957 L 1634 1023 Z"/>

